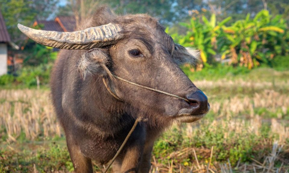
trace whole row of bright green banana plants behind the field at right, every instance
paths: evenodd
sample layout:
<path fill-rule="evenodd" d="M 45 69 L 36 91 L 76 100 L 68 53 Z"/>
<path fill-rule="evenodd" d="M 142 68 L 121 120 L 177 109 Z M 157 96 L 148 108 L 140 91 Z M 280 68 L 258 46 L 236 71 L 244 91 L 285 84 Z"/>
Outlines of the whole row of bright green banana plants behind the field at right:
<path fill-rule="evenodd" d="M 202 61 L 210 65 L 221 57 L 251 69 L 260 64 L 272 66 L 275 57 L 289 56 L 289 29 L 281 15 L 271 17 L 269 11 L 262 10 L 253 19 L 247 14 L 244 20 L 225 26 L 230 20 L 216 22 L 215 14 L 210 20 L 202 14 L 192 17 L 190 23 L 181 23 L 188 28 L 186 35 L 172 37 L 179 44 L 199 49 Z"/>

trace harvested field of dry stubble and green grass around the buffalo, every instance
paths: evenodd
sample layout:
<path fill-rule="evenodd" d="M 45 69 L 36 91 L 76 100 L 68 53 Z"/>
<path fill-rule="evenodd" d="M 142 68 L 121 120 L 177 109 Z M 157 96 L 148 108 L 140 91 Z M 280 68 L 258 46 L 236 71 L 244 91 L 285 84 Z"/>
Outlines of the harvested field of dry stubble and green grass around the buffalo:
<path fill-rule="evenodd" d="M 186 73 L 208 96 L 211 111 L 160 136 L 152 173 L 288 172 L 289 71 Z M 0 91 L 0 172 L 73 171 L 50 99 L 48 89 Z"/>

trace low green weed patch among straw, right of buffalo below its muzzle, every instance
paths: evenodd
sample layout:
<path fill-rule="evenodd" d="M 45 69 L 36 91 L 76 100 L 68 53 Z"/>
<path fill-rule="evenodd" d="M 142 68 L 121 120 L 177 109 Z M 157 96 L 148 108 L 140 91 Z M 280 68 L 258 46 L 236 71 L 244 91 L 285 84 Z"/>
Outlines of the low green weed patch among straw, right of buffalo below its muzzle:
<path fill-rule="evenodd" d="M 234 131 L 227 131 L 229 128 L 221 124 L 212 128 L 206 123 L 200 123 L 194 135 L 188 135 L 185 129 L 176 126 L 166 131 L 154 144 L 153 154 L 159 163 L 166 165 L 171 159 L 180 162 L 184 148 L 210 149 L 214 147 L 213 161 L 226 162 L 230 160 L 232 166 L 235 166 L 240 159 L 241 162 L 251 162 L 251 158 L 258 157 L 259 152 L 269 152 L 271 148 L 263 144 L 262 139 L 268 134 L 268 130 L 264 128 L 258 136 L 248 133 L 244 130 L 243 134 L 235 134 Z M 178 132 L 178 133 L 175 133 Z M 178 155 L 173 152 L 179 151 Z M 186 158 L 182 164 L 191 164 L 194 161 L 192 153 L 186 153 Z M 182 153 L 182 154 L 181 154 Z M 203 154 L 204 155 L 204 154 Z M 179 158 L 178 156 L 181 156 Z M 204 156 L 198 155 L 198 159 L 205 159 Z"/>

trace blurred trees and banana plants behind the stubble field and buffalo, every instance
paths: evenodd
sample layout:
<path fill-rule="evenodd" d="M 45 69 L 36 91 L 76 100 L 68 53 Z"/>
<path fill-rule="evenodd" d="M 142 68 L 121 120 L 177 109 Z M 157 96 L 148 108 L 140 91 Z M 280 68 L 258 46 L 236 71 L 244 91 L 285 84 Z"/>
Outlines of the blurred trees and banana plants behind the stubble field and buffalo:
<path fill-rule="evenodd" d="M 200 50 L 200 65 L 190 71 L 289 67 L 287 0 L 0 0 L 0 4 L 11 40 L 22 48 L 23 59 L 23 68 L 1 76 L 0 85 L 31 87 L 36 85 L 36 76 L 47 85 L 51 63 L 57 57 L 57 51 L 23 39 L 17 23 L 33 27 L 36 20 L 73 16 L 77 26 L 100 5 L 117 14 L 157 17 L 176 43 Z M 23 74 L 27 79 L 21 77 Z"/>

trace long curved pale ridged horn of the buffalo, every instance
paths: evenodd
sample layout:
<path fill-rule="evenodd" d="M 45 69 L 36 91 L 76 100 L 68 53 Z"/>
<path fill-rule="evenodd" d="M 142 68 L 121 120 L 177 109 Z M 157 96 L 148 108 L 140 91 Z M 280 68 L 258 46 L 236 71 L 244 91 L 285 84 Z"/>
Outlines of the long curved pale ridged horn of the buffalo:
<path fill-rule="evenodd" d="M 74 32 L 37 30 L 21 24 L 18 28 L 37 43 L 59 49 L 91 49 L 113 44 L 121 38 L 121 28 L 112 23 Z"/>

